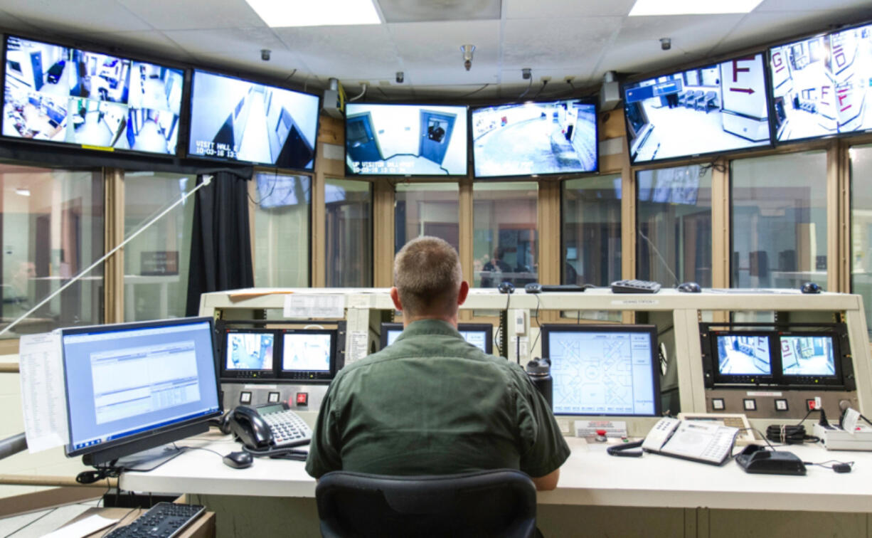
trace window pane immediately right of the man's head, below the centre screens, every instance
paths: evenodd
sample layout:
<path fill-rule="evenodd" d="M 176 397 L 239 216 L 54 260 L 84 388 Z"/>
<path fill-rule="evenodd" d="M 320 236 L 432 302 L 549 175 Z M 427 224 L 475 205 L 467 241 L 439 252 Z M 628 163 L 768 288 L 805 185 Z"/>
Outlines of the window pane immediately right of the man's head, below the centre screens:
<path fill-rule="evenodd" d="M 537 183 L 473 185 L 473 286 L 538 280 Z"/>

